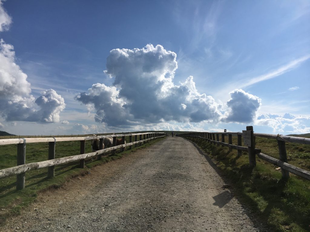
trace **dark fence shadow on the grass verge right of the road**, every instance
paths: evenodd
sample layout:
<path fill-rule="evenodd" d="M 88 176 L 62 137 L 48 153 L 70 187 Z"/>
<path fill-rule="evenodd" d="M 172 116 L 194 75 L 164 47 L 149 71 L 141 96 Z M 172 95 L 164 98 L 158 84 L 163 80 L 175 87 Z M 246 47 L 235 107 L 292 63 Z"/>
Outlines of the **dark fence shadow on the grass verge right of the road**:
<path fill-rule="evenodd" d="M 282 217 L 289 217 L 287 221 L 293 220 L 294 223 L 298 224 L 304 230 L 309 230 L 309 223 L 305 223 L 305 221 L 307 221 L 307 218 L 310 217 L 310 212 L 301 212 L 301 210 L 299 210 L 297 206 L 294 205 L 294 207 L 288 207 L 281 201 L 281 199 L 285 195 L 287 184 L 283 179 L 279 180 L 278 178 L 274 178 L 268 174 L 260 174 L 257 170 L 253 170 L 253 168 L 250 168 L 249 165 L 241 165 L 239 168 L 237 168 L 237 161 L 242 156 L 236 155 L 236 157 L 226 159 L 225 157 L 231 155 L 229 154 L 229 151 L 219 150 L 220 147 L 217 147 L 214 144 L 202 144 L 199 140 L 188 141 L 190 141 L 198 149 L 199 153 L 206 158 L 211 167 L 221 177 L 227 177 L 225 178 L 225 182 L 229 181 L 234 186 L 234 189 L 232 189 L 232 191 L 234 192 L 235 197 L 241 203 L 246 204 L 254 211 L 254 214 L 247 213 L 247 215 L 254 222 L 255 225 L 259 226 L 260 223 L 263 223 L 263 225 L 268 225 L 269 220 L 271 220 L 270 216 L 272 215 L 273 211 L 279 209 L 281 212 L 284 213 L 284 216 Z M 197 144 L 195 144 L 195 142 L 201 144 L 202 148 L 199 148 Z M 208 155 L 203 153 L 201 149 L 209 150 L 211 156 L 214 157 L 216 163 Z M 221 167 L 222 170 L 219 170 L 216 165 L 219 164 L 219 162 L 221 163 L 221 165 L 224 165 Z M 250 197 L 251 194 L 256 194 L 258 198 L 261 198 L 260 203 L 264 203 L 263 209 L 262 207 L 259 207 L 258 203 Z M 299 196 L 286 196 L 286 200 L 290 200 L 291 204 L 293 205 L 294 198 L 297 197 Z M 257 220 L 258 216 L 259 219 Z M 269 229 L 277 230 L 279 228 Z"/>

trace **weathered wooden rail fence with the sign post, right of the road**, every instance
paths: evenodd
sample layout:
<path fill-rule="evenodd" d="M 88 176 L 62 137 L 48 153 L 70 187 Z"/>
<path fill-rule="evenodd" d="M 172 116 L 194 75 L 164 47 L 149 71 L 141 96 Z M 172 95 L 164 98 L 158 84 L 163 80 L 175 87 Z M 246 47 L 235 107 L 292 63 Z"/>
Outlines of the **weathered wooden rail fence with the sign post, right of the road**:
<path fill-rule="evenodd" d="M 219 141 L 219 135 L 221 135 L 221 141 Z M 225 143 L 225 135 L 228 135 L 228 143 Z M 232 135 L 237 135 L 237 145 L 232 144 Z M 281 168 L 282 178 L 288 179 L 290 177 L 289 173 L 293 173 L 297 176 L 303 177 L 307 180 L 310 180 L 310 172 L 307 170 L 303 170 L 296 166 L 290 165 L 287 162 L 287 155 L 286 155 L 286 147 L 285 143 L 298 143 L 298 144 L 310 144 L 310 139 L 308 138 L 301 138 L 295 136 L 286 136 L 286 135 L 272 135 L 272 134 L 261 134 L 261 133 L 253 133 L 253 127 L 248 126 L 246 127 L 246 131 L 242 132 L 189 132 L 179 134 L 179 136 L 184 137 L 194 137 L 200 138 L 210 143 L 222 145 L 229 147 L 229 149 L 237 149 L 238 155 L 241 155 L 242 151 L 249 153 L 249 163 L 251 167 L 256 166 L 256 155 L 278 167 Z M 242 146 L 242 138 L 243 142 L 246 147 Z M 279 159 L 275 159 L 270 157 L 266 154 L 261 153 L 261 149 L 255 148 L 255 137 L 263 137 L 268 139 L 276 139 L 278 143 L 279 149 Z"/>

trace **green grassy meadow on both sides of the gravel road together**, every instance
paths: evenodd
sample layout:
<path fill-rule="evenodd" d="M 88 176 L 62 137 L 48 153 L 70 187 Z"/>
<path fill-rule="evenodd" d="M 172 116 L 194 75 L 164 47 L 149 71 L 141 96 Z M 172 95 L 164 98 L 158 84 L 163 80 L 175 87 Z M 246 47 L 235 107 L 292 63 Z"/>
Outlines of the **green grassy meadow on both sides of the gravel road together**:
<path fill-rule="evenodd" d="M 144 132 L 148 131 L 135 133 Z M 158 132 L 170 133 L 170 131 Z M 10 136 L 6 138 L 8 137 Z M 63 135 L 59 137 L 63 137 Z M 304 135 L 304 137 L 310 136 Z M 129 137 L 125 138 L 128 143 Z M 251 209 L 253 217 L 261 223 L 267 224 L 272 231 L 303 232 L 310 230 L 310 182 L 308 180 L 290 174 L 290 179 L 285 182 L 281 180 L 281 170 L 276 170 L 276 166 L 258 157 L 256 159 L 257 166 L 252 169 L 249 168 L 248 153 L 246 152 L 238 156 L 237 150 L 229 151 L 227 147 L 216 146 L 200 139 L 190 140 L 208 154 L 218 166 L 223 178 L 233 187 L 232 191 L 238 200 Z M 227 136 L 225 136 L 225 140 L 227 141 Z M 115 155 L 103 156 L 99 161 L 86 160 L 84 169 L 79 167 L 79 162 L 56 166 L 54 178 L 47 178 L 47 168 L 27 172 L 25 174 L 25 189 L 22 191 L 15 190 L 16 176 L 0 179 L 0 224 L 4 223 L 11 215 L 20 213 L 22 208 L 36 200 L 40 192 L 59 188 L 74 177 L 90 173 L 93 166 L 121 158 L 135 149 L 144 148 L 157 141 L 159 140 L 138 145 L 137 148 L 132 146 L 132 150 L 126 148 L 122 153 L 118 153 L 117 150 Z M 90 140 L 86 141 L 85 153 L 91 152 L 90 143 Z M 232 143 L 237 144 L 237 136 L 232 136 Z M 262 153 L 274 158 L 279 157 L 277 140 L 257 137 L 255 144 L 256 148 L 262 150 Z M 310 145 L 286 143 L 286 151 L 290 164 L 310 171 Z M 77 155 L 79 152 L 79 141 L 57 142 L 55 158 Z M 0 147 L 0 169 L 15 166 L 16 153 L 16 144 L 2 145 Z M 47 160 L 47 154 L 48 143 L 26 145 L 26 163 Z"/>

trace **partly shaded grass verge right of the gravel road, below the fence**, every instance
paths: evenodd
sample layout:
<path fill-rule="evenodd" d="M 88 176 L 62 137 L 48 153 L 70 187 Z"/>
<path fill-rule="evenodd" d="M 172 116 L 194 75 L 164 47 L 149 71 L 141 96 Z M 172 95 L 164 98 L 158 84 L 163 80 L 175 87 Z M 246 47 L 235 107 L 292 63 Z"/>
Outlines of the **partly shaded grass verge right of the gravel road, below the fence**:
<path fill-rule="evenodd" d="M 239 201 L 272 231 L 310 230 L 310 181 L 290 174 L 285 183 L 281 180 L 281 170 L 275 170 L 276 166 L 258 157 L 257 166 L 251 169 L 248 153 L 243 152 L 238 157 L 237 150 L 229 152 L 227 147 L 218 147 L 205 140 L 190 140 L 212 158 L 234 187 Z M 268 146 L 266 141 L 256 147 L 267 150 Z"/>

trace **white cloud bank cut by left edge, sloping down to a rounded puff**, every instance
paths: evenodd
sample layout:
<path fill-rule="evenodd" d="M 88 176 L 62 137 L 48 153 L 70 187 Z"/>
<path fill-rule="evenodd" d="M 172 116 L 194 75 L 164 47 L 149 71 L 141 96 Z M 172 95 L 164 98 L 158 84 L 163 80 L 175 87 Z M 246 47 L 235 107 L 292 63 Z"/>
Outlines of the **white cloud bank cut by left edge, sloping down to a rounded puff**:
<path fill-rule="evenodd" d="M 14 47 L 0 41 L 0 115 L 7 121 L 59 122 L 64 98 L 55 90 L 35 99 L 27 75 L 15 63 Z"/>

